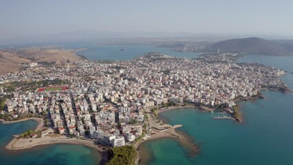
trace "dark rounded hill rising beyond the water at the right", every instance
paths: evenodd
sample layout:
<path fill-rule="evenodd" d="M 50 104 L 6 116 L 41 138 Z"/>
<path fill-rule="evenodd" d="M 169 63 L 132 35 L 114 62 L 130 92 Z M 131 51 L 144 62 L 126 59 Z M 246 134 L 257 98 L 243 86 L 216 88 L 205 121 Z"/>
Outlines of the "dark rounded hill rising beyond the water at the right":
<path fill-rule="evenodd" d="M 270 56 L 293 55 L 293 45 L 268 41 L 257 37 L 220 41 L 219 43 L 210 45 L 210 50 L 221 50 L 221 52 L 243 52 Z"/>

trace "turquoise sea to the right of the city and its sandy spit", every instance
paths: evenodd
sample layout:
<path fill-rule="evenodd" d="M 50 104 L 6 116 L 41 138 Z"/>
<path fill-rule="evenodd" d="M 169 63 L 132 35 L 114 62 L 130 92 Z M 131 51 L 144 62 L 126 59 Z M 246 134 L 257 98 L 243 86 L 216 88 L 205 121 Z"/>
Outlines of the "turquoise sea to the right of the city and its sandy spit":
<path fill-rule="evenodd" d="M 292 57 L 247 56 L 254 61 L 293 72 Z M 282 79 L 293 88 L 293 74 Z M 175 109 L 161 113 L 171 124 L 183 124 L 199 145 L 200 153 L 187 151 L 172 140 L 146 142 L 152 158 L 149 164 L 293 164 L 293 94 L 261 91 L 265 99 L 239 102 L 243 124 L 212 120 L 215 114 L 197 109 Z"/>

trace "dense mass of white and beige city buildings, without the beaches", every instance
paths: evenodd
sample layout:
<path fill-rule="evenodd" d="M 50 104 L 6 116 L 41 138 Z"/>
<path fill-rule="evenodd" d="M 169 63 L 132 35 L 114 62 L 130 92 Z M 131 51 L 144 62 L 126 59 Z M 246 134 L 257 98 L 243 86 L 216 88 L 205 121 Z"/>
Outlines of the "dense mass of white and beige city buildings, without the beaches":
<path fill-rule="evenodd" d="M 0 81 L 66 80 L 65 91 L 13 92 L 7 110 L 17 115 L 48 111 L 58 133 L 122 146 L 143 134 L 145 108 L 190 102 L 232 110 L 235 99 L 257 96 L 258 89 L 288 90 L 281 74 L 274 67 L 235 63 L 225 55 L 187 59 L 149 54 L 125 62 L 35 66 Z"/>

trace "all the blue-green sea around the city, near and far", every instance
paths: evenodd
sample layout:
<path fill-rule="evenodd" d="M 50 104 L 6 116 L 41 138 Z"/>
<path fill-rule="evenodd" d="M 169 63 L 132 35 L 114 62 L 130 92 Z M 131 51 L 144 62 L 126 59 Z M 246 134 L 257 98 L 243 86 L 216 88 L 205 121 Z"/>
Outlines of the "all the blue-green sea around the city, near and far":
<path fill-rule="evenodd" d="M 89 60 L 127 61 L 146 52 L 195 58 L 198 53 L 173 52 L 169 48 L 147 45 L 63 45 L 64 48 L 87 48 L 78 52 Z M 125 50 L 120 50 L 125 49 Z M 293 57 L 246 55 L 239 62 L 261 63 L 293 72 Z M 293 89 L 293 74 L 282 77 Z M 199 109 L 174 109 L 160 113 L 170 124 L 193 137 L 199 154 L 188 151 L 172 139 L 142 144 L 149 155 L 146 164 L 293 164 L 293 94 L 261 91 L 264 99 L 238 102 L 243 123 L 213 120 L 218 112 Z M 0 124 L 0 164 L 98 164 L 100 154 L 82 145 L 54 144 L 24 151 L 8 151 L 6 144 L 14 134 L 34 129 L 34 120 Z"/>

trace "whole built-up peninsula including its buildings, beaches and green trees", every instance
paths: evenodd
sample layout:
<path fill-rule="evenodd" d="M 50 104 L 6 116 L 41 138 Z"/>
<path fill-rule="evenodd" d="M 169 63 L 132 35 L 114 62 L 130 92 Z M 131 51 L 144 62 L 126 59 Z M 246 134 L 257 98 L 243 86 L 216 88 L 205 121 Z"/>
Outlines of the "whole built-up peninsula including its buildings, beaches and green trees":
<path fill-rule="evenodd" d="M 34 63 L 0 77 L 2 121 L 39 122 L 6 148 L 83 144 L 101 151 L 103 163 L 138 164 L 142 142 L 168 137 L 196 154 L 194 140 L 177 130 L 182 125 L 166 124 L 158 113 L 199 107 L 221 111 L 215 119 L 241 122 L 237 101 L 262 98 L 261 89 L 292 91 L 280 79 L 283 74 L 257 63 L 236 63 L 230 54 L 189 59 L 149 53 L 131 61 Z"/>

